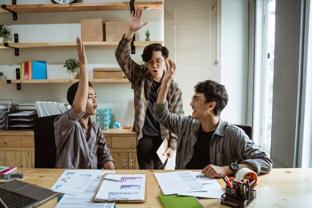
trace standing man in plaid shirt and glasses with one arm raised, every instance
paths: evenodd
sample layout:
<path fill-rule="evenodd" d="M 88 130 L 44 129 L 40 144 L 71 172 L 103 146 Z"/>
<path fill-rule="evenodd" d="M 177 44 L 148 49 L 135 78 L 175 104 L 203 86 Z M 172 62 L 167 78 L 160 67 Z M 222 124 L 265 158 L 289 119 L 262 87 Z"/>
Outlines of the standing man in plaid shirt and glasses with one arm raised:
<path fill-rule="evenodd" d="M 157 100 L 161 88 L 161 80 L 168 61 L 168 49 L 161 44 L 151 44 L 144 48 L 142 58 L 147 66 L 140 65 L 130 57 L 130 44 L 136 31 L 148 22 L 141 24 L 143 10 L 132 11 L 129 30 L 124 35 L 115 51 L 116 59 L 121 69 L 134 87 L 135 122 L 134 131 L 137 137 L 137 157 L 140 169 L 164 169 L 156 155 L 162 140 L 168 140 L 167 157 L 172 157 L 176 150 L 176 135 L 169 132 L 156 120 L 153 104 Z M 169 111 L 184 115 L 181 90 L 172 80 L 166 97 Z"/>

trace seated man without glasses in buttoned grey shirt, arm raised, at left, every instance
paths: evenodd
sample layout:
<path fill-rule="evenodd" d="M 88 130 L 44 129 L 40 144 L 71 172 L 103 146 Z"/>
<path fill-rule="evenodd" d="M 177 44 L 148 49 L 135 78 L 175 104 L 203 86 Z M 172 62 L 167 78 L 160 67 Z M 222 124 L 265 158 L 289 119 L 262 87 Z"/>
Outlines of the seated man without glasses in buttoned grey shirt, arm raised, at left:
<path fill-rule="evenodd" d="M 90 119 L 96 114 L 98 104 L 96 93 L 88 81 L 84 45 L 79 37 L 76 42 L 80 78 L 67 91 L 67 100 L 72 107 L 54 121 L 55 168 L 114 169 L 102 130 Z"/>

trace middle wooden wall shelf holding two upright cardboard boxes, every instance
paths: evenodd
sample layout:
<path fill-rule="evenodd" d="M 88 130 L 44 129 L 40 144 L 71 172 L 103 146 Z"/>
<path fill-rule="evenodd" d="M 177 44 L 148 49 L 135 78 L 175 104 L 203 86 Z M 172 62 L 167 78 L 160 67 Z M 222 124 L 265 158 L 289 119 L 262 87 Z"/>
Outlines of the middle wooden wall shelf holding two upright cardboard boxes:
<path fill-rule="evenodd" d="M 85 47 L 117 47 L 119 41 L 85 41 Z M 135 46 L 147 46 L 149 44 L 159 43 L 162 41 L 134 41 Z M 5 47 L 4 43 L 0 43 L 0 49 L 9 48 L 59 48 L 59 47 L 76 47 L 76 42 L 28 42 L 28 43 L 8 43 L 9 47 Z"/>

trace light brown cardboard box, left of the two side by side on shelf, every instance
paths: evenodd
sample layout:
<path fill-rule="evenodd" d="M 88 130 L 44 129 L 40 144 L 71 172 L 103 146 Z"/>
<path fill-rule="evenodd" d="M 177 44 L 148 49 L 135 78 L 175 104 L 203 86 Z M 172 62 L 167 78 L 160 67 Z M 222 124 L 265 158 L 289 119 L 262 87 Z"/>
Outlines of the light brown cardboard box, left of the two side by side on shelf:
<path fill-rule="evenodd" d="M 102 18 L 81 19 L 82 41 L 105 41 L 105 22 Z"/>

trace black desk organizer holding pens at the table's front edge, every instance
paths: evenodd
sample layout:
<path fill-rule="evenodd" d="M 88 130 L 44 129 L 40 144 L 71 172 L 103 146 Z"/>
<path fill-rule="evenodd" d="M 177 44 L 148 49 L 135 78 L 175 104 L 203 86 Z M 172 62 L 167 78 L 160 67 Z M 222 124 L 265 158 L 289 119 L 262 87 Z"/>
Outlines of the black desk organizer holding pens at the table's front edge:
<path fill-rule="evenodd" d="M 256 199 L 255 180 L 244 177 L 247 184 L 233 182 L 234 188 L 225 186 L 225 193 L 221 196 L 221 204 L 231 208 L 246 208 Z"/>

